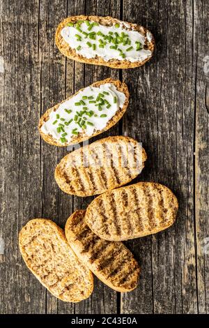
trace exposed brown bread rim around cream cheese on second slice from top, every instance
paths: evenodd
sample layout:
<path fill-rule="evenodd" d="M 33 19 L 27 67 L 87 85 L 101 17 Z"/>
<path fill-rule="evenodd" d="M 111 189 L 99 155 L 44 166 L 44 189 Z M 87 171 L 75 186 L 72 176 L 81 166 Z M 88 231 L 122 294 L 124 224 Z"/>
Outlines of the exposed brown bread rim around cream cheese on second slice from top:
<path fill-rule="evenodd" d="M 70 144 L 77 144 L 79 142 L 88 140 L 91 137 L 94 137 L 95 135 L 99 135 L 100 133 L 109 130 L 109 128 L 111 128 L 111 126 L 114 126 L 121 119 L 121 117 L 123 117 L 123 114 L 125 113 L 125 111 L 127 109 L 127 105 L 129 103 L 129 92 L 127 89 L 127 85 L 124 82 L 121 82 L 119 80 L 113 80 L 110 77 L 107 78 L 106 80 L 98 81 L 98 82 L 91 84 L 91 87 L 100 87 L 100 85 L 105 84 L 105 83 L 114 84 L 114 86 L 116 87 L 116 89 L 118 91 L 121 91 L 121 92 L 123 92 L 123 94 L 125 94 L 125 103 L 123 104 L 123 108 L 120 108 L 120 107 L 118 108 L 118 111 L 116 112 L 114 117 L 112 117 L 109 120 L 109 122 L 107 123 L 107 126 L 105 126 L 105 128 L 103 128 L 102 130 L 95 131 L 95 133 L 93 133 L 91 136 L 87 136 L 87 135 L 85 135 L 85 133 L 79 133 L 78 135 L 73 136 L 72 140 L 70 142 L 64 142 L 64 143 L 61 143 L 59 140 L 55 140 L 51 135 L 42 133 L 41 127 L 44 124 L 44 122 L 47 121 L 47 119 L 49 119 L 50 112 L 56 111 L 58 109 L 59 105 L 61 105 L 61 103 L 64 103 L 66 100 L 68 100 L 68 99 L 72 98 L 73 96 L 75 96 L 76 94 L 78 94 L 79 91 L 85 89 L 85 88 L 83 88 L 83 89 L 79 90 L 75 95 L 70 96 L 69 98 L 63 100 L 61 103 L 55 105 L 54 107 L 49 108 L 49 110 L 47 110 L 45 112 L 45 114 L 42 115 L 42 117 L 40 118 L 39 124 L 38 124 L 38 130 L 40 132 L 42 139 L 45 140 L 45 142 L 48 142 L 49 144 L 54 144 L 54 146 L 66 147 L 66 146 L 69 146 Z"/>

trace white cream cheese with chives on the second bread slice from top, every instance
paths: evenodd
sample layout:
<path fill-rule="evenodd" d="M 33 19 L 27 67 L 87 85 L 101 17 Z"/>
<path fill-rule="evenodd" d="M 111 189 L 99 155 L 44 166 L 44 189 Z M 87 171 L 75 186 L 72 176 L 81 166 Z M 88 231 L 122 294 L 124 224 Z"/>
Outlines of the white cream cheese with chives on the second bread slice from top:
<path fill-rule="evenodd" d="M 52 110 L 40 129 L 62 143 L 79 133 L 91 136 L 105 128 L 124 103 L 125 94 L 112 83 L 86 87 Z"/>

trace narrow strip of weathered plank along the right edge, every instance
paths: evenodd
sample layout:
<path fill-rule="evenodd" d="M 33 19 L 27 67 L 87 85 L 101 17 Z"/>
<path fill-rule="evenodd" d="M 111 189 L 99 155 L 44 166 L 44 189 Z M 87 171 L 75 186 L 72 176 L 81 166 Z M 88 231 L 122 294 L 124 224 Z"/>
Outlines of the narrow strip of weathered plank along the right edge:
<path fill-rule="evenodd" d="M 209 27 L 208 1 L 194 3 L 196 51 L 195 211 L 199 313 L 209 313 Z"/>

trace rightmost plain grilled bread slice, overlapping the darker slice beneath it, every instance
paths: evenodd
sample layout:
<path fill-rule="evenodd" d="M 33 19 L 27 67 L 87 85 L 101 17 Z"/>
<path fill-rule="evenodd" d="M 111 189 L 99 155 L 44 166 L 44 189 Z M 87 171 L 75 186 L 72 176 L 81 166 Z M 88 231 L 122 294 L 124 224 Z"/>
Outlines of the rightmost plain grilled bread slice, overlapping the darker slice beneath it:
<path fill-rule="evenodd" d="M 100 238 L 121 241 L 169 228 L 177 210 L 178 201 L 169 188 L 139 182 L 96 197 L 88 205 L 85 220 Z"/>

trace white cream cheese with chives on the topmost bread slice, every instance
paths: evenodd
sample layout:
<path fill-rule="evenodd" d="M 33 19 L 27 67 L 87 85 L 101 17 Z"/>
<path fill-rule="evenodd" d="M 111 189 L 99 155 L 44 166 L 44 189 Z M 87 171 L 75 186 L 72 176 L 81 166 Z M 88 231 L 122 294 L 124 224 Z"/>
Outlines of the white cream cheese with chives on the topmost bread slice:
<path fill-rule="evenodd" d="M 152 40 L 148 32 L 143 36 L 139 31 L 131 29 L 125 23 L 103 26 L 88 20 L 68 23 L 61 36 L 66 43 L 87 59 L 102 57 L 104 61 L 111 59 L 127 61 L 144 61 L 152 52 L 145 49 L 146 40 Z"/>

